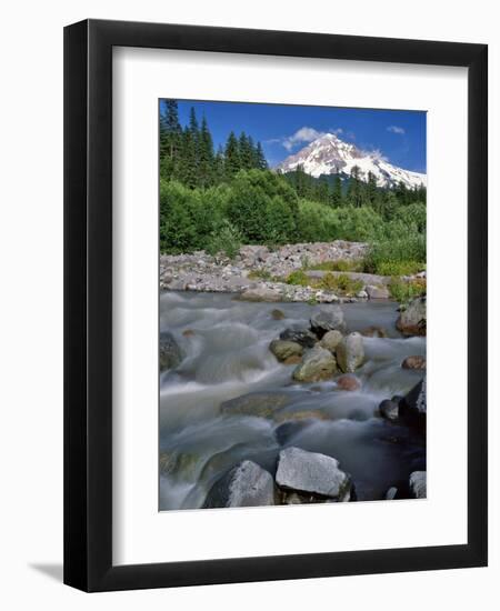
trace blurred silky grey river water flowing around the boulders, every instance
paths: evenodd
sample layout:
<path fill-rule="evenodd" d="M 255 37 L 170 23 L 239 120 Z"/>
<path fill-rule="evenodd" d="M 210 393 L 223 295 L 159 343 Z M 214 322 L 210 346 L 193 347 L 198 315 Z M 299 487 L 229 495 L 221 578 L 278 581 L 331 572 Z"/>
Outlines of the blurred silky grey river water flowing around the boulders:
<path fill-rule="evenodd" d="M 271 315 L 276 308 L 283 320 Z M 174 335 L 184 358 L 160 377 L 160 510 L 200 508 L 211 485 L 244 459 L 273 474 L 279 451 L 290 445 L 338 459 L 361 501 L 383 499 L 392 485 L 404 489 L 411 471 L 426 468 L 423 440 L 374 415 L 380 401 L 421 379 L 401 361 L 426 354 L 426 339 L 396 331 L 393 302 L 343 304 L 348 331 L 378 325 L 389 335 L 363 338 L 361 389 L 341 391 L 334 381 L 299 384 L 291 379 L 294 365 L 280 364 L 269 343 L 287 328 L 308 327 L 316 308 L 249 303 L 230 294 L 161 294 L 160 330 Z M 223 401 L 256 391 L 289 394 L 279 421 L 221 413 Z"/>

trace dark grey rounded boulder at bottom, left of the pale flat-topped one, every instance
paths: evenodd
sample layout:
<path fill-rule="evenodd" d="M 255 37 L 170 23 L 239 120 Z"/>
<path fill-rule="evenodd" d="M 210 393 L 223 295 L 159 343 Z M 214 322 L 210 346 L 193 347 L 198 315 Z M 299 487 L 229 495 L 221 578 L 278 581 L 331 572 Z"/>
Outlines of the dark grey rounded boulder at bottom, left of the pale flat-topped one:
<path fill-rule="evenodd" d="M 210 489 L 203 508 L 262 507 L 274 504 L 274 481 L 268 471 L 243 460 Z"/>

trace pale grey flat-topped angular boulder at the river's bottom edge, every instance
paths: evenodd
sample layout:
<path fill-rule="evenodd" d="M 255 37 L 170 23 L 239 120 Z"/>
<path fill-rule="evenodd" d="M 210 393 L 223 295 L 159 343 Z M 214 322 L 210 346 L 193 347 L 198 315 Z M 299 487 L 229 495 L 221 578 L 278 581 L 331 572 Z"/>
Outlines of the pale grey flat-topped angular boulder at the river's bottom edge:
<path fill-rule="evenodd" d="M 300 448 L 287 448 L 280 452 L 276 482 L 287 494 L 312 495 L 322 500 L 349 501 L 350 477 L 339 469 L 339 461 Z M 317 499 L 319 500 L 319 499 Z M 297 502 L 297 501 L 296 501 Z"/>

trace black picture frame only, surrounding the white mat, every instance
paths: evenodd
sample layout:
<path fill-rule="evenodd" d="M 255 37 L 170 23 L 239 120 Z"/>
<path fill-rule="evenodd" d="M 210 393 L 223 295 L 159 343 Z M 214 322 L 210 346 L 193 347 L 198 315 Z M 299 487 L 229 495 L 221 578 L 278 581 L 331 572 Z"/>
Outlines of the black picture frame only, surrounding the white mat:
<path fill-rule="evenodd" d="M 112 564 L 112 48 L 468 68 L 468 542 Z M 484 567 L 488 558 L 486 44 L 86 20 L 64 29 L 64 583 L 84 591 Z"/>

